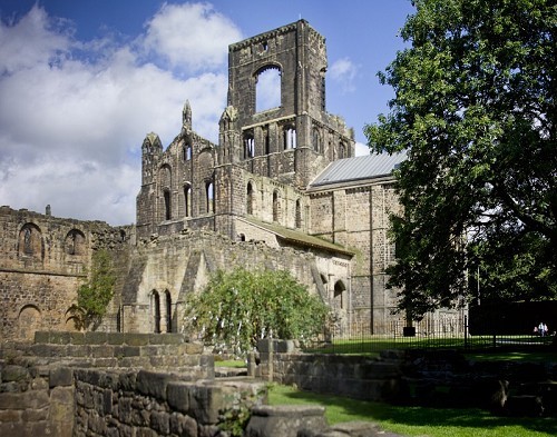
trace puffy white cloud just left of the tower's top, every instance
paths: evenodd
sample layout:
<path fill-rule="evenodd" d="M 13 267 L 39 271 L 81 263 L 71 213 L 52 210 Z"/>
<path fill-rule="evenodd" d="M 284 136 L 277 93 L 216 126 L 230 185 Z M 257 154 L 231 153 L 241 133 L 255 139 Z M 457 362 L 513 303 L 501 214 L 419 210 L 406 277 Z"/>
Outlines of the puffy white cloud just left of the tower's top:
<path fill-rule="evenodd" d="M 241 31 L 208 3 L 167 4 L 147 23 L 145 48 L 188 71 L 215 68 L 227 60 L 228 44 Z"/>

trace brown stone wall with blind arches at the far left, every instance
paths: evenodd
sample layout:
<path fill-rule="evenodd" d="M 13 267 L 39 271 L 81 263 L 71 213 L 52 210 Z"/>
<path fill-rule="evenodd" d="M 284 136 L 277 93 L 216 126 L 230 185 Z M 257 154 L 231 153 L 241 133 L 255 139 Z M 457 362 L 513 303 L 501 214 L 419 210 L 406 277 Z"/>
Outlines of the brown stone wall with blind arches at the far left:
<path fill-rule="evenodd" d="M 0 337 L 32 339 L 36 329 L 74 328 L 70 306 L 92 251 L 118 250 L 129 228 L 0 207 Z"/>

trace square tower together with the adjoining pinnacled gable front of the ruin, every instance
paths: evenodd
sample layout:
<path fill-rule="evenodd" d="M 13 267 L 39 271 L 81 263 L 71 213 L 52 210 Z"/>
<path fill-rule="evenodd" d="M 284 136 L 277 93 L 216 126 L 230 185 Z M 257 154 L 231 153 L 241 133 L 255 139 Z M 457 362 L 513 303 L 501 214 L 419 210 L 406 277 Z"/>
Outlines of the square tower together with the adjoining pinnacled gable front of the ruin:
<path fill-rule="evenodd" d="M 246 215 L 290 228 L 307 222 L 309 183 L 354 155 L 351 129 L 325 110 L 325 40 L 305 20 L 231 44 L 219 143 L 193 131 L 189 102 L 167 150 L 155 133 L 144 141 L 138 237 L 188 228 L 235 239 Z M 260 108 L 270 73 L 278 98 Z"/>

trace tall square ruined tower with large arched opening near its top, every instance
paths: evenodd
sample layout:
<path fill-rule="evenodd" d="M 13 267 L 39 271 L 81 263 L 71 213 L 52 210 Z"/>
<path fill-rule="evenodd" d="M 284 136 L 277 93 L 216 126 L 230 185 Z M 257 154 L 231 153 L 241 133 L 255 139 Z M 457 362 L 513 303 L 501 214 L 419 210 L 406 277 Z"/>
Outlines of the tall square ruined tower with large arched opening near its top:
<path fill-rule="evenodd" d="M 326 64 L 325 40 L 305 20 L 229 46 L 221 163 L 243 161 L 303 190 L 329 162 L 354 156 L 351 131 L 325 111 Z M 268 73 L 278 78 L 280 98 L 262 109 L 260 79 Z"/>

